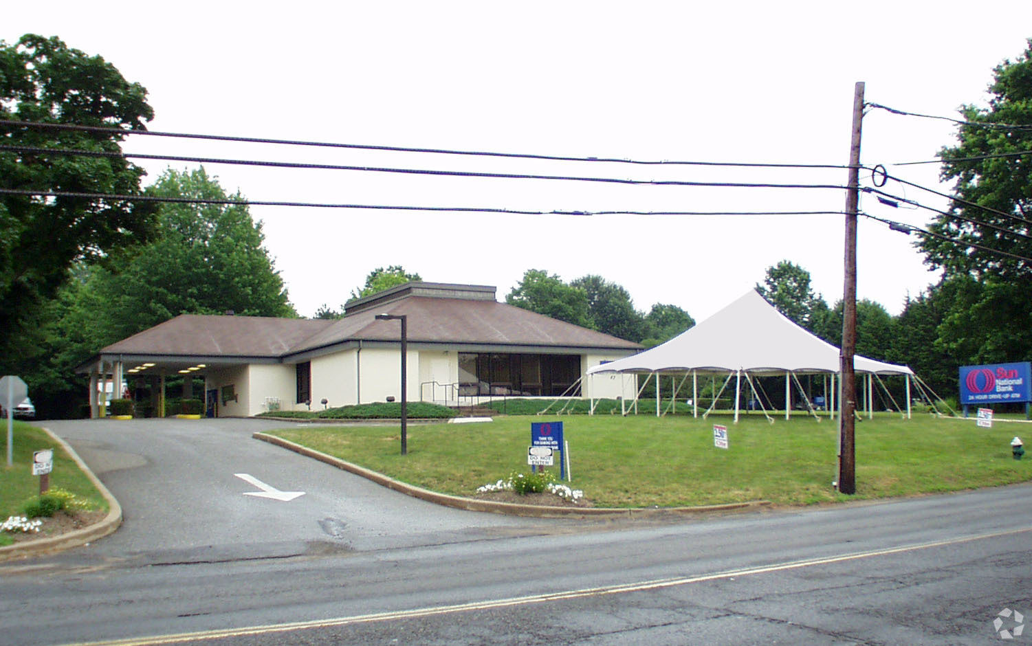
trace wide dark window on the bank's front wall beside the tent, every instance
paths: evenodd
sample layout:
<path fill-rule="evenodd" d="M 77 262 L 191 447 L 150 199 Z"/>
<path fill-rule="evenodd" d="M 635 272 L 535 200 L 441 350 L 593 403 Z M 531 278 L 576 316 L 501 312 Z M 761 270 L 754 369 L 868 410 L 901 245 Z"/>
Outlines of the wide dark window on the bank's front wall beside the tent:
<path fill-rule="evenodd" d="M 580 370 L 576 354 L 460 352 L 459 395 L 558 396 L 577 382 Z"/>

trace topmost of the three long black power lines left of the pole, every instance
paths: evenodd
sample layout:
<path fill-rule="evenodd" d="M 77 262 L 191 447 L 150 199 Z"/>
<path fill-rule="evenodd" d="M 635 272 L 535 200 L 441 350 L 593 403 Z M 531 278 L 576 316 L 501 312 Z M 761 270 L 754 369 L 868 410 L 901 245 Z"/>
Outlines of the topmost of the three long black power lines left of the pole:
<path fill-rule="evenodd" d="M 711 161 L 675 161 L 675 160 L 635 160 L 615 157 L 576 157 L 566 155 L 536 155 L 529 153 L 492 153 L 486 151 L 459 151 L 433 148 L 408 148 L 398 146 L 375 146 L 363 143 L 335 143 L 331 141 L 304 141 L 294 139 L 270 139 L 266 137 L 245 137 L 217 134 L 197 134 L 187 132 L 161 132 L 155 130 L 124 130 L 102 126 L 78 126 L 73 124 L 47 124 L 31 121 L 15 121 L 0 119 L 0 125 L 20 126 L 27 128 L 50 128 L 56 130 L 72 130 L 80 132 L 100 132 L 119 135 L 151 135 L 158 137 L 176 137 L 186 139 L 207 139 L 214 141 L 235 141 L 245 143 L 272 143 L 282 146 L 308 146 L 319 148 L 340 148 L 360 151 L 382 151 L 391 153 L 427 153 L 434 155 L 471 155 L 478 157 L 505 157 L 514 159 L 539 159 L 548 161 L 605 162 L 639 165 L 671 165 L 671 166 L 740 166 L 752 168 L 847 168 L 841 164 L 765 164 L 753 162 L 711 162 Z"/>

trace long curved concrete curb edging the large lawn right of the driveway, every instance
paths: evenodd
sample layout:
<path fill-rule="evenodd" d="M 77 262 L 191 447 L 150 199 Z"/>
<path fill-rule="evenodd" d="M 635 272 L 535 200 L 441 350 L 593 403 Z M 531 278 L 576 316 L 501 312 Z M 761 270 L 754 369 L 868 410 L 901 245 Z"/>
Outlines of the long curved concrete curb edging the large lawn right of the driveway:
<path fill-rule="evenodd" d="M 276 435 L 270 435 L 268 433 L 256 432 L 252 435 L 255 440 L 261 440 L 262 442 L 267 442 L 273 444 L 278 447 L 283 447 L 294 451 L 295 453 L 300 453 L 307 457 L 311 457 L 319 460 L 320 462 L 325 462 L 331 466 L 342 469 L 346 472 L 355 474 L 356 476 L 361 476 L 367 480 L 385 486 L 388 489 L 393 489 L 401 493 L 411 495 L 413 497 L 426 500 L 428 503 L 434 503 L 437 505 L 443 505 L 445 507 L 454 507 L 456 509 L 464 509 L 472 512 L 490 512 L 493 514 L 509 514 L 512 516 L 533 516 L 538 518 L 556 518 L 556 517 L 613 517 L 613 516 L 624 516 L 627 518 L 644 518 L 647 516 L 658 516 L 668 514 L 702 514 L 706 512 L 727 512 L 727 511 L 741 511 L 749 509 L 757 509 L 760 507 L 767 507 L 770 505 L 768 500 L 752 500 L 748 503 L 732 503 L 729 505 L 706 505 L 702 507 L 666 507 L 666 508 L 644 508 L 644 509 L 614 509 L 614 508 L 577 508 L 577 507 L 548 507 L 543 505 L 517 505 L 513 503 L 494 503 L 492 500 L 480 500 L 477 498 L 466 498 L 458 495 L 449 495 L 447 493 L 439 493 L 437 491 L 430 491 L 429 489 L 424 489 L 422 487 L 417 487 L 415 485 L 410 485 L 399 480 L 394 480 L 388 476 L 377 473 L 375 471 L 369 471 L 358 464 L 353 464 L 351 462 L 342 460 L 341 458 L 333 457 L 332 455 L 327 455 L 320 451 L 303 447 L 299 444 L 290 442 L 289 440 L 283 440 L 282 438 L 277 438 Z"/>

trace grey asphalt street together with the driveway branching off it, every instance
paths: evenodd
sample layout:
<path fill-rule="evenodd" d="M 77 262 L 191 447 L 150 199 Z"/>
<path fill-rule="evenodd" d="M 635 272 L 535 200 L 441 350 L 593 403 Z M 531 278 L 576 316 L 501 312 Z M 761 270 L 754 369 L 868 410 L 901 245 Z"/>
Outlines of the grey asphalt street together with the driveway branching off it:
<path fill-rule="evenodd" d="M 692 520 L 519 519 L 311 463 L 250 440 L 250 420 L 193 424 L 54 425 L 126 526 L 0 568 L 0 643 L 988 644 L 1005 608 L 1032 622 L 1032 486 Z M 233 473 L 305 494 L 245 496 Z M 1023 640 L 1032 628 L 1009 643 Z"/>

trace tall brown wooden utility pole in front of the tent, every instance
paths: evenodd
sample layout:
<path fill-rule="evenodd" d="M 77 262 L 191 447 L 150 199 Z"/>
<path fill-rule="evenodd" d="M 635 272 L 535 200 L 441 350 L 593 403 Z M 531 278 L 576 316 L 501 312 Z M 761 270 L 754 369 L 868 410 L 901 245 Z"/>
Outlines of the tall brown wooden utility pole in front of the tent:
<path fill-rule="evenodd" d="M 845 281 L 842 290 L 842 397 L 839 408 L 839 491 L 857 492 L 857 216 L 860 211 L 860 131 L 864 120 L 864 83 L 852 96 L 852 138 L 849 144 L 849 183 L 845 194 Z"/>

